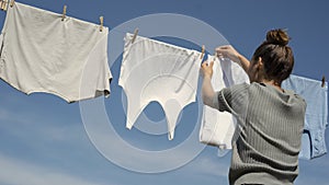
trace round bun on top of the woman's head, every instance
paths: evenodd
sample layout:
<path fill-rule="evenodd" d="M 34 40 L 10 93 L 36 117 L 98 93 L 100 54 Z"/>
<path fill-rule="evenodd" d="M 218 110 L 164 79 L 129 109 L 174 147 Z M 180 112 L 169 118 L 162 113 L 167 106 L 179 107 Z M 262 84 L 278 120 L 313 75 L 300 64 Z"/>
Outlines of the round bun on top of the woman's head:
<path fill-rule="evenodd" d="M 286 31 L 277 28 L 268 32 L 265 43 L 286 46 L 290 43 L 290 39 L 291 38 L 287 35 Z"/>

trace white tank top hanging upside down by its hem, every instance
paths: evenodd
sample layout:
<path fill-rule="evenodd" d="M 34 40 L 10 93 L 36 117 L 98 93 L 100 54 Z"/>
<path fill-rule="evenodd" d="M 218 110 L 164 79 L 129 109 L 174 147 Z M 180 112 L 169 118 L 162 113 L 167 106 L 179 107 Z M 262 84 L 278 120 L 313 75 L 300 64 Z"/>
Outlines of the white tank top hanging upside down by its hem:
<path fill-rule="evenodd" d="M 126 127 L 131 129 L 152 101 L 162 106 L 173 139 L 181 109 L 195 102 L 202 54 L 126 34 L 118 84 L 127 96 Z"/>

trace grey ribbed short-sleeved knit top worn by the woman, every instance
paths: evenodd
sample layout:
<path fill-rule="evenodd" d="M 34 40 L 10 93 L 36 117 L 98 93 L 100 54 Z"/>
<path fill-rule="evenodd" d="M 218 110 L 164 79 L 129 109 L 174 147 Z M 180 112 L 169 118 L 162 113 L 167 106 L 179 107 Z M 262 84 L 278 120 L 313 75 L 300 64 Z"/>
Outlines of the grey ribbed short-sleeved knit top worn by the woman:
<path fill-rule="evenodd" d="M 298 175 L 305 101 L 292 91 L 253 82 L 219 91 L 215 105 L 239 123 L 229 183 L 293 184 Z"/>

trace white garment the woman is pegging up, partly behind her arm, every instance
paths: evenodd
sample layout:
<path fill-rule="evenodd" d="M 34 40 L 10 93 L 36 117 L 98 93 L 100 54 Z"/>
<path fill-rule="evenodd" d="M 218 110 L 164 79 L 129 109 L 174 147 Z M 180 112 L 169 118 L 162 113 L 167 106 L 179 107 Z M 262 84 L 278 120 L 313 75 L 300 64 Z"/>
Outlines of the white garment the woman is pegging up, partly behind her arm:
<path fill-rule="evenodd" d="M 218 59 L 208 55 L 207 62 L 214 61 L 212 84 L 214 91 L 226 86 L 249 83 L 249 78 L 243 69 L 227 58 Z M 219 112 L 207 105 L 203 107 L 203 118 L 200 128 L 200 141 L 206 144 L 231 149 L 231 140 L 236 130 L 236 122 L 230 113 Z"/>

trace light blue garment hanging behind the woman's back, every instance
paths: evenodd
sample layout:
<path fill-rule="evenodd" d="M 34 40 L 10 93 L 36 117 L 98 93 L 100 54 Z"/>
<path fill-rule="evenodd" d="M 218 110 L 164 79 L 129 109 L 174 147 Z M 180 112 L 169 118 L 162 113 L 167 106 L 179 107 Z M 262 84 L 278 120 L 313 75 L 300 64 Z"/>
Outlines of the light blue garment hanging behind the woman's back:
<path fill-rule="evenodd" d="M 328 83 L 293 76 L 282 82 L 282 88 L 293 90 L 307 103 L 300 159 L 314 159 L 327 152 L 325 131 L 328 126 Z"/>

